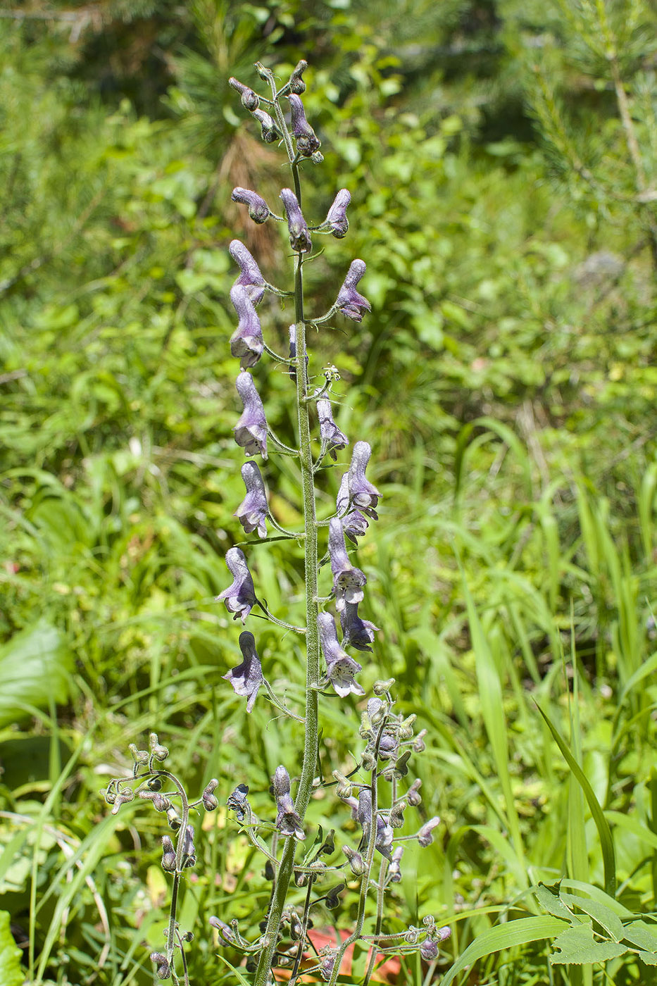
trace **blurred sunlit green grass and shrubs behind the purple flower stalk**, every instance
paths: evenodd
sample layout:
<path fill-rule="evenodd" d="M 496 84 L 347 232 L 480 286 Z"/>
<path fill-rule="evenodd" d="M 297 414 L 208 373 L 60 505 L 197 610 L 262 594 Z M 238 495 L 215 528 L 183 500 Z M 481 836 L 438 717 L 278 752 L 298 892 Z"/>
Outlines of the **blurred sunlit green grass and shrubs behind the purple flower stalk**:
<path fill-rule="evenodd" d="M 602 885 L 535 698 L 622 834 L 623 905 L 655 909 L 655 19 L 647 0 L 0 12 L 0 886 L 30 982 L 152 981 L 159 822 L 141 812 L 137 836 L 96 794 L 127 742 L 156 728 L 191 788 L 216 775 L 225 798 L 247 779 L 262 813 L 301 743 L 221 681 L 237 633 L 213 601 L 242 538 L 230 240 L 289 284 L 284 238 L 230 202 L 236 184 L 278 194 L 279 159 L 227 86 L 257 58 L 311 65 L 325 164 L 307 213 L 352 192 L 348 238 L 308 266 L 309 307 L 329 307 L 351 257 L 368 264 L 372 316 L 319 338 L 313 367 L 340 370 L 338 424 L 372 444 L 385 495 L 359 549 L 383 630 L 364 683 L 394 674 L 428 728 L 425 809 L 445 821 L 442 845 L 407 851 L 392 920 L 454 920 L 446 969 L 497 918 L 539 913 L 531 884 Z M 263 304 L 282 348 L 290 309 Z M 262 384 L 291 439 L 287 378 Z M 294 524 L 294 470 L 268 479 Z M 327 513 L 335 488 L 328 474 Z M 301 553 L 250 558 L 293 615 Z M 294 700 L 293 642 L 255 631 Z M 329 706 L 337 762 L 356 722 Z M 185 889 L 193 981 L 223 975 L 207 915 L 266 900 L 234 832 L 220 814 Z M 491 949 L 478 981 L 546 981 L 545 942 L 523 948 Z M 645 981 L 635 957 L 607 972 Z"/>

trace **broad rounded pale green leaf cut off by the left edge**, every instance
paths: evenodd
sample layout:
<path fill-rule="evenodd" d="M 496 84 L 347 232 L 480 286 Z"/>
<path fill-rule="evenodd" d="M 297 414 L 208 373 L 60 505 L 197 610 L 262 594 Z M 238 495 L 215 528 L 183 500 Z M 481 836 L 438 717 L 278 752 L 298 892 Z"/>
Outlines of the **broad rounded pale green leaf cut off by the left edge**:
<path fill-rule="evenodd" d="M 15 634 L 0 648 L 0 726 L 65 702 L 71 692 L 73 658 L 63 634 L 45 619 Z"/>

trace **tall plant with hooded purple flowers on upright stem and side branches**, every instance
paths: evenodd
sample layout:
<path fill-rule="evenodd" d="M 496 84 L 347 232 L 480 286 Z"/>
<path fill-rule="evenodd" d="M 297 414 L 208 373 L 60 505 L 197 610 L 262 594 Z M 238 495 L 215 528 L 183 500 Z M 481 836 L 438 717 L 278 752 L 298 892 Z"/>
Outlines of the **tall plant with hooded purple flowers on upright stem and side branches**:
<path fill-rule="evenodd" d="M 342 474 L 335 511 L 331 516 L 318 520 L 316 478 L 319 467 L 327 455 L 335 460 L 337 454 L 349 445 L 349 440 L 333 421 L 331 387 L 334 380 L 339 379 L 334 368 L 328 367 L 324 371 L 321 386 L 311 385 L 307 328 L 318 328 L 342 317 L 360 322 L 363 314 L 370 311 L 370 304 L 356 289 L 365 274 L 365 263 L 361 259 L 353 259 L 328 313 L 313 316 L 305 310 L 304 264 L 312 254 L 313 239 L 331 235 L 341 240 L 346 235 L 349 227 L 346 210 L 351 197 L 346 188 L 339 189 L 326 219 L 315 225 L 309 224 L 304 215 L 301 166 L 307 162 L 320 164 L 323 160 L 320 139 L 308 122 L 301 100 L 306 89 L 303 80 L 306 67 L 306 62 L 300 61 L 288 81 L 278 88 L 273 74 L 256 63 L 255 69 L 260 79 L 268 86 L 266 96 L 256 94 L 255 90 L 236 79 L 230 80 L 241 96 L 242 105 L 260 125 L 262 139 L 267 143 L 279 140 L 284 146 L 292 185 L 280 191 L 282 215 L 277 214 L 280 207 L 270 208 L 255 190 L 235 188 L 232 198 L 247 207 L 255 223 L 286 224 L 294 254 L 294 289 L 286 292 L 267 284 L 257 260 L 244 244 L 234 240 L 229 247 L 240 271 L 230 293 L 238 317 L 230 348 L 232 355 L 240 359 L 236 388 L 243 405 L 234 433 L 237 444 L 248 457 L 241 470 L 246 496 L 235 514 L 248 534 L 266 537 L 269 524 L 283 535 L 302 539 L 305 549 L 303 626 L 294 626 L 270 613 L 265 603 L 258 599 L 257 578 L 249 568 L 248 552 L 245 554 L 238 547 L 230 548 L 226 554 L 226 564 L 233 582 L 217 597 L 224 602 L 234 619 L 241 621 L 241 626 L 257 607 L 266 618 L 297 632 L 305 640 L 306 690 L 303 711 L 289 709 L 274 693 L 267 681 L 266 669 L 262 669 L 255 636 L 250 630 L 242 629 L 239 637 L 242 663 L 224 675 L 236 695 L 246 699 L 248 712 L 252 711 L 256 701 L 263 700 L 258 696 L 264 696 L 284 715 L 304 724 L 303 760 L 294 796 L 290 774 L 281 764 L 272 778 L 275 807 L 272 806 L 270 818 L 259 819 L 255 816 L 245 784 L 238 785 L 227 803 L 255 848 L 264 856 L 265 874 L 272 880 L 272 889 L 267 912 L 260 924 L 260 934 L 255 940 L 249 941 L 244 937 L 235 921 L 229 926 L 220 918 L 211 918 L 210 923 L 217 929 L 222 943 L 245 953 L 247 972 L 253 973 L 254 986 L 269 986 L 275 981 L 274 970 L 283 966 L 291 969 L 291 986 L 300 975 L 308 972 L 318 973 L 329 986 L 334 986 L 342 957 L 349 945 L 356 941 L 364 942 L 371 949 L 364 978 L 364 983 L 367 983 L 374 970 L 377 953 L 419 951 L 424 959 L 434 961 L 439 944 L 449 936 L 449 929 L 437 928 L 431 917 L 424 919 L 422 928 L 410 927 L 397 934 L 383 931 L 385 895 L 392 885 L 401 880 L 404 841 L 416 839 L 420 845 L 428 845 L 432 840 L 432 831 L 440 821 L 436 817 L 428 818 L 414 834 L 398 834 L 404 824 L 404 812 L 409 807 L 417 808 L 421 803 L 419 782 L 408 786 L 406 777 L 408 760 L 413 752 L 424 748 L 424 743 L 422 734 L 413 735 L 415 717 L 403 719 L 395 711 L 391 693 L 394 679 L 376 681 L 374 695 L 364 701 L 359 730 L 363 748 L 356 768 L 348 777 L 338 770 L 332 771 L 330 779 L 317 777 L 318 763 L 326 762 L 326 758 L 319 757 L 321 699 L 331 691 L 340 699 L 351 702 L 361 701 L 365 695 L 357 678 L 362 665 L 349 651 L 359 652 L 361 660 L 365 660 L 363 655 L 373 650 L 378 627 L 358 613 L 358 606 L 365 596 L 367 578 L 353 564 L 347 543 L 357 544 L 358 538 L 366 533 L 368 523 L 378 520 L 376 508 L 381 494 L 366 476 L 371 457 L 370 446 L 367 442 L 356 441 L 349 464 Z M 256 312 L 266 291 L 294 299 L 289 356 L 275 353 L 267 344 L 266 326 L 263 331 Z M 265 354 L 266 358 L 286 365 L 290 381 L 294 383 L 297 418 L 295 448 L 279 441 L 265 417 L 262 399 L 251 373 Z M 316 421 L 320 442 L 317 455 L 313 447 Z M 277 454 L 292 455 L 299 460 L 304 518 L 303 530 L 300 531 L 281 528 L 268 508 L 264 478 L 255 459 L 259 458 L 263 467 L 269 467 Z M 328 596 L 324 597 L 320 594 L 320 553 L 323 557 L 328 554 L 332 580 L 330 586 L 327 585 Z M 342 631 L 341 642 L 337 636 L 338 624 Z M 167 811 L 168 817 L 172 798 L 182 804 L 182 812 L 174 811 L 178 823 L 177 845 L 174 846 L 170 836 L 165 836 L 163 840 L 162 866 L 165 872 L 174 876 L 167 947 L 166 951 L 154 952 L 151 957 L 161 979 L 171 976 L 175 982 L 181 981 L 180 967 L 186 986 L 189 980 L 183 944 L 188 938 L 179 930 L 176 907 L 183 869 L 192 866 L 195 858 L 193 828 L 188 821 L 189 809 L 215 808 L 213 792 L 218 782 L 211 781 L 201 798 L 189 803 L 178 779 L 157 769 L 155 760 L 163 749 L 157 738 L 153 742 L 155 747 L 150 753 L 136 748 L 133 750 L 133 780 L 138 781 L 136 789 L 126 782 L 112 781 L 106 798 L 115 811 L 123 802 L 132 800 L 136 793 L 141 799 L 151 801 L 156 810 Z M 173 785 L 168 793 L 162 793 L 165 781 Z M 348 809 L 347 818 L 357 821 L 361 834 L 356 846 L 350 844 L 348 835 L 341 833 L 336 847 L 334 833 L 329 833 L 325 838 L 321 829 L 315 843 L 311 841 L 313 826 L 306 815 L 311 796 L 319 788 L 333 791 Z M 176 824 L 172 827 L 176 828 Z M 322 857 L 327 857 L 327 860 Z M 378 865 L 375 867 L 375 864 Z M 339 882 L 328 890 L 320 888 L 318 891 L 317 884 L 330 877 Z M 317 964 L 309 969 L 303 966 L 303 962 L 312 948 L 309 935 L 311 910 L 337 907 L 339 893 L 347 882 L 355 884 L 358 891 L 355 924 L 349 929 L 345 940 L 321 951 Z M 302 888 L 301 892 L 299 888 Z M 370 892 L 375 902 L 372 914 L 374 925 L 366 933 Z"/>

